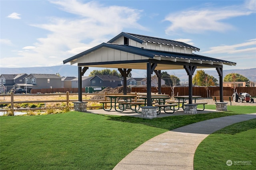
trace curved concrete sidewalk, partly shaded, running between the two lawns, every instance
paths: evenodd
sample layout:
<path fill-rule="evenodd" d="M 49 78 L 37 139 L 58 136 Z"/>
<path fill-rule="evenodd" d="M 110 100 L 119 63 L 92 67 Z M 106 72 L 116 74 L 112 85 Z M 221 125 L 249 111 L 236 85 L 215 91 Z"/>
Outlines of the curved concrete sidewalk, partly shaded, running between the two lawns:
<path fill-rule="evenodd" d="M 193 170 L 196 148 L 209 134 L 255 118 L 256 113 L 218 117 L 168 131 L 133 150 L 114 170 Z"/>

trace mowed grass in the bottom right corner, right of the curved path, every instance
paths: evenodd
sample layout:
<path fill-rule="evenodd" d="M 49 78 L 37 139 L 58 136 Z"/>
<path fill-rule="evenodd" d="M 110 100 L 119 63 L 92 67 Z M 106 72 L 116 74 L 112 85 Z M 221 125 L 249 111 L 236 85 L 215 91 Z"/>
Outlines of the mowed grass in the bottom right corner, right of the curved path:
<path fill-rule="evenodd" d="M 256 119 L 235 123 L 209 135 L 196 149 L 195 170 L 255 170 Z M 228 166 L 226 162 L 233 164 Z M 248 161 L 249 164 L 235 164 Z"/>

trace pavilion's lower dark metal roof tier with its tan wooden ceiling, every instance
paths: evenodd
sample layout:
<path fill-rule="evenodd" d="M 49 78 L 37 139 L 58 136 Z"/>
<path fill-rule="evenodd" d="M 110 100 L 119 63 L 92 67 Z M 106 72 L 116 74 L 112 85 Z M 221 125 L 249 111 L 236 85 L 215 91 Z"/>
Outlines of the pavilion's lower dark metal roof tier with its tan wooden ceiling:
<path fill-rule="evenodd" d="M 157 51 L 150 49 L 142 49 L 138 47 L 133 47 L 129 45 L 119 45 L 112 43 L 102 43 L 88 49 L 78 55 L 70 57 L 63 61 L 63 63 L 77 63 L 77 59 L 80 57 L 86 57 L 90 53 L 94 53 L 96 50 L 101 48 L 114 49 L 118 51 L 123 51 L 127 53 L 132 53 L 134 55 L 139 55 L 146 57 L 144 59 L 138 60 L 122 60 L 122 61 L 100 61 L 100 62 L 90 62 L 90 63 L 78 63 L 78 66 L 91 66 L 91 67 L 103 67 L 103 68 L 132 68 L 132 69 L 146 69 L 146 63 L 149 59 L 154 60 L 158 63 L 156 70 L 170 70 L 170 69 L 183 69 L 183 65 L 186 64 L 196 64 L 198 68 L 215 68 L 216 65 L 236 65 L 234 62 L 214 59 L 211 57 L 206 57 L 196 54 L 184 54 L 184 53 L 173 53 L 166 51 Z M 124 54 L 126 55 L 126 54 Z M 180 63 L 181 62 L 181 63 Z M 184 63 L 183 63 L 184 62 Z"/>

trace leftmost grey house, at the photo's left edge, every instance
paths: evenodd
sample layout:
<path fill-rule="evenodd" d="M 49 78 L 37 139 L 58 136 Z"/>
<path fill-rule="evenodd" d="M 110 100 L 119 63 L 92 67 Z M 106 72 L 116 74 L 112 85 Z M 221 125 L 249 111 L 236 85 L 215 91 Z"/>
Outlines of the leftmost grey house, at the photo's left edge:
<path fill-rule="evenodd" d="M 0 75 L 0 92 L 8 93 L 15 88 L 24 88 L 26 84 L 24 77 L 28 74 L 1 74 Z"/>

